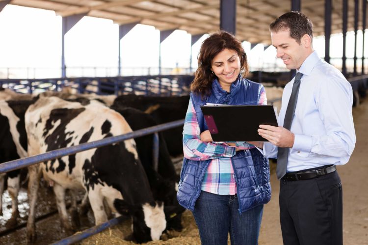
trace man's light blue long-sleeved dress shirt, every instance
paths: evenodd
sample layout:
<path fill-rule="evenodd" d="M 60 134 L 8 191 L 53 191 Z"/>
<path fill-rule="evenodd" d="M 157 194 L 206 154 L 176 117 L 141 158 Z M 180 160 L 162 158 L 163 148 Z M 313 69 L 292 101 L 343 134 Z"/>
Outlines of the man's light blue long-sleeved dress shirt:
<path fill-rule="evenodd" d="M 290 129 L 295 140 L 289 150 L 287 171 L 347 163 L 356 141 L 350 83 L 316 52 L 306 58 L 298 72 L 303 73 L 303 77 Z M 278 116 L 280 126 L 284 125 L 293 82 L 294 79 L 284 88 Z M 277 158 L 277 149 L 265 142 L 263 155 Z"/>

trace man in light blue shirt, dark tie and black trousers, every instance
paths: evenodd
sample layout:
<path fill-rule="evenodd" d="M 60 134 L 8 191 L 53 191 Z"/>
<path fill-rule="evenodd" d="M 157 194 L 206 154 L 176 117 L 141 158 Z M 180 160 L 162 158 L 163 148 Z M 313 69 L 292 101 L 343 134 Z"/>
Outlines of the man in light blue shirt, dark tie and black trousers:
<path fill-rule="evenodd" d="M 252 142 L 278 158 L 285 245 L 342 245 L 342 184 L 335 165 L 348 162 L 356 137 L 352 88 L 313 50 L 313 24 L 288 12 L 270 25 L 277 57 L 297 74 L 283 92 L 279 127 L 260 125 L 269 142 Z M 283 125 L 283 127 L 281 127 Z"/>

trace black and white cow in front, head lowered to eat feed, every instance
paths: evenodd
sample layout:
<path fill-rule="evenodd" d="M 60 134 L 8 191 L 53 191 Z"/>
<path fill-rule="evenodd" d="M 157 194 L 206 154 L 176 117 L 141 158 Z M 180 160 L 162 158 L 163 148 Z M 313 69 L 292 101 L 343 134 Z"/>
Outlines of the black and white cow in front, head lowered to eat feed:
<path fill-rule="evenodd" d="M 98 101 L 83 106 L 56 97 L 40 98 L 25 116 L 30 156 L 131 132 L 124 117 Z M 85 189 L 96 224 L 107 221 L 104 199 L 112 212 L 130 214 L 137 242 L 158 240 L 166 227 L 163 204 L 155 202 L 133 139 L 79 152 L 29 169 L 28 239 L 35 238 L 34 205 L 38 178 L 53 181 L 62 223 L 68 227 L 65 189 Z M 115 206 L 114 206 L 115 202 Z"/>

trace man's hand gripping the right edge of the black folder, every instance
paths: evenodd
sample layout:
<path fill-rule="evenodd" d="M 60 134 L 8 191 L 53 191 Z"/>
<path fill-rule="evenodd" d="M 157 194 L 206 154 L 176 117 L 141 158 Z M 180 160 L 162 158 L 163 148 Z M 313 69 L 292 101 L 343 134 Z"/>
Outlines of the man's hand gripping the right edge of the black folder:
<path fill-rule="evenodd" d="M 279 147 L 292 148 L 294 145 L 294 134 L 281 126 L 274 127 L 261 124 L 258 134 Z"/>

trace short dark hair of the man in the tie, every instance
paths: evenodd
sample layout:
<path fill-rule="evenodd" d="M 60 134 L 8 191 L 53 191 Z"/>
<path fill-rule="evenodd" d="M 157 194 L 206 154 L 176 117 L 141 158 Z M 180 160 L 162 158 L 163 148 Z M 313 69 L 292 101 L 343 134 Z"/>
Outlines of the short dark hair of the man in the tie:
<path fill-rule="evenodd" d="M 299 44 L 301 44 L 300 39 L 305 34 L 308 34 L 313 40 L 313 23 L 308 16 L 299 11 L 290 11 L 283 14 L 269 25 L 269 29 L 274 32 L 289 29 L 290 37 Z"/>

